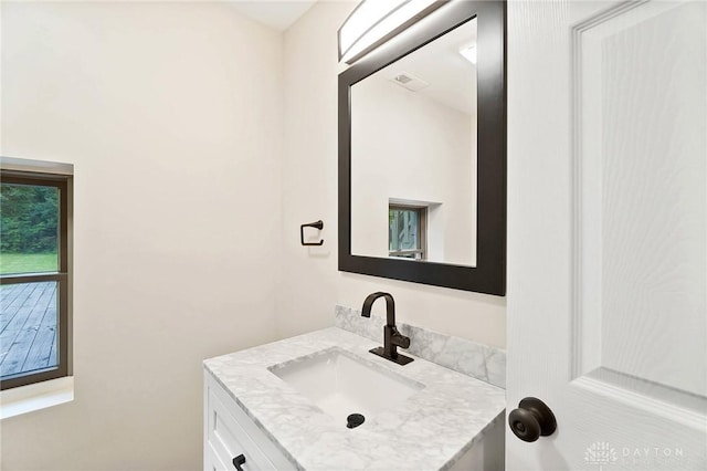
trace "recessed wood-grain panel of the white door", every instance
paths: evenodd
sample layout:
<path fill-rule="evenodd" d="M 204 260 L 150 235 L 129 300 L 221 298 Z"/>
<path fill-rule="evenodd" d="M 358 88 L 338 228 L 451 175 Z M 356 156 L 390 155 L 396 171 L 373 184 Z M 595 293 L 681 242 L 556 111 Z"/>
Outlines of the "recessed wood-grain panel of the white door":
<path fill-rule="evenodd" d="M 606 368 L 703 397 L 705 7 L 647 2 L 573 38 L 578 322 L 588 325 L 578 373 Z"/>

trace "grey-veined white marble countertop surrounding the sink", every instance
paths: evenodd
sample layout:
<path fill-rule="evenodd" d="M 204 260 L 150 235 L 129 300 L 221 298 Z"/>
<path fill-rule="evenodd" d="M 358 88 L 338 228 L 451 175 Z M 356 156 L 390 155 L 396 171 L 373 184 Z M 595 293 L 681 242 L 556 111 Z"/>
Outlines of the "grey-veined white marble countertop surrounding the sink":
<path fill-rule="evenodd" d="M 414 362 L 400 366 L 368 352 L 379 345 L 330 327 L 210 358 L 204 366 L 297 469 L 452 467 L 503 412 L 504 389 L 414 356 Z M 347 429 L 268 370 L 331 347 L 425 387 Z"/>

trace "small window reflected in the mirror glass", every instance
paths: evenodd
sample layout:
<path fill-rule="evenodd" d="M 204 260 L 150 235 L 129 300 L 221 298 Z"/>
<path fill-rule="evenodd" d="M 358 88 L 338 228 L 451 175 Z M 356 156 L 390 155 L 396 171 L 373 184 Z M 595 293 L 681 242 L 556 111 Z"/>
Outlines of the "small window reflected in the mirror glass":
<path fill-rule="evenodd" d="M 388 216 L 390 257 L 425 260 L 428 208 L 390 205 Z"/>

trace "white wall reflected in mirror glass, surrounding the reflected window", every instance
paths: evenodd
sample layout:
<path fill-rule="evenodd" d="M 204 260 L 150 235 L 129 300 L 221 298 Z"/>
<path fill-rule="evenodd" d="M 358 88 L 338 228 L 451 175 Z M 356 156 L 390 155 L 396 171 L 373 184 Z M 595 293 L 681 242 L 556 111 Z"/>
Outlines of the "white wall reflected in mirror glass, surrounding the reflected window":
<path fill-rule="evenodd" d="M 351 252 L 388 257 L 391 198 L 434 202 L 428 260 L 474 266 L 473 117 L 380 72 L 351 87 Z"/>

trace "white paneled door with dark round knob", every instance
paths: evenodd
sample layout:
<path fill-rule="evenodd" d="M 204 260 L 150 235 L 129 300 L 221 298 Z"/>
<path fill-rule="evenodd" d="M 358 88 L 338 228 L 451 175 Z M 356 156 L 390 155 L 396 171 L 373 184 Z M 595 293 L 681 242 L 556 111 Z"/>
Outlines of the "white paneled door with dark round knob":
<path fill-rule="evenodd" d="M 508 2 L 509 470 L 707 470 L 706 63 L 705 1 Z"/>

